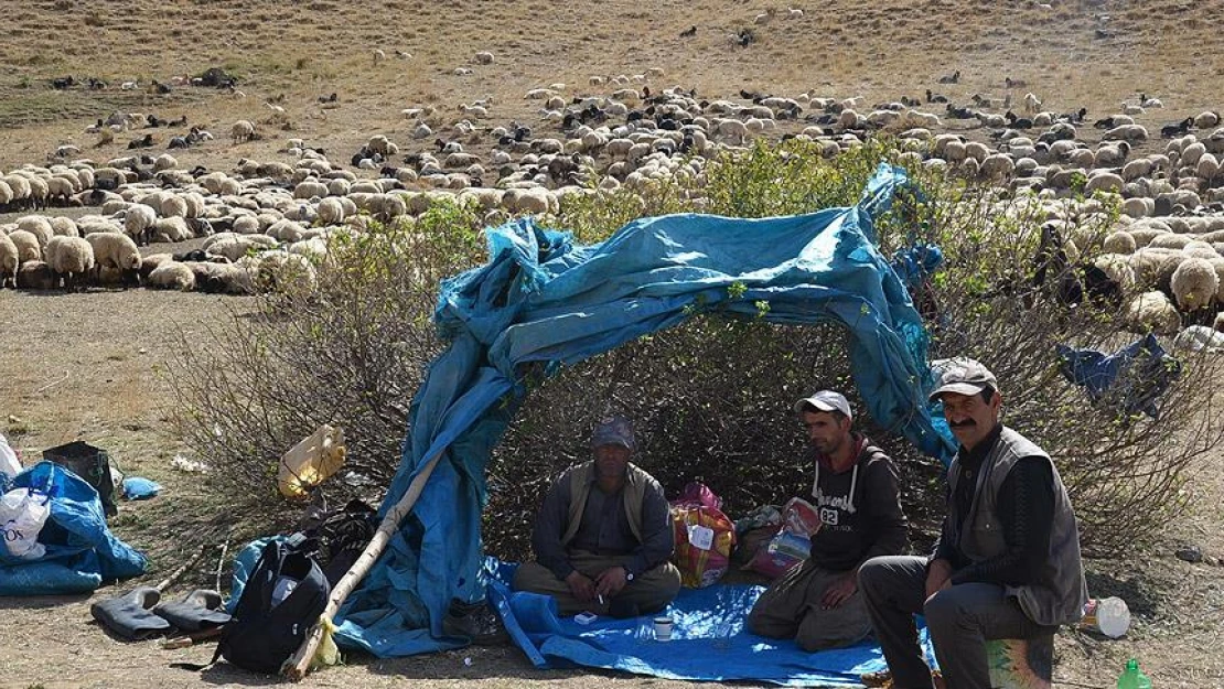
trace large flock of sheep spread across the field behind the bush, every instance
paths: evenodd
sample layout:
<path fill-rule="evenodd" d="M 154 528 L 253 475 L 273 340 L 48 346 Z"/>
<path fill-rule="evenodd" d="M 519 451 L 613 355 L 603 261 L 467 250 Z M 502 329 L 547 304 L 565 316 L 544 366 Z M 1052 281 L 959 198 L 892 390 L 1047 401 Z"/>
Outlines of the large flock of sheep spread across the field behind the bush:
<path fill-rule="evenodd" d="M 492 61 L 481 54 L 476 64 Z M 26 289 L 308 288 L 329 241 L 360 233 L 370 217 L 411 222 L 447 197 L 474 201 L 493 224 L 554 213 L 567 195 L 645 191 L 659 180 L 692 182 L 683 188 L 700 209 L 707 166 L 754 137 L 808 140 L 832 157 L 889 132 L 903 164 L 988 180 L 1004 193 L 1029 190 L 1038 201 L 1119 195 L 1124 223 L 1094 263 L 1125 291 L 1136 327 L 1171 329 L 1224 307 L 1224 128 L 1213 130 L 1220 124 L 1213 111 L 1164 126 L 1162 146 L 1133 120 L 1163 106 L 1147 95 L 1088 124 L 1084 109 L 1044 110 L 1032 93 L 1017 98 L 1017 115 L 1010 95 L 974 94 L 957 105 L 927 92 L 925 99 L 873 106 L 808 93 L 704 99 L 679 88 L 652 91 L 662 76 L 655 69 L 591 77 L 591 93 L 577 97 L 562 83 L 531 89 L 524 94 L 537 106 L 531 122 L 498 125 L 492 99 L 453 110 L 409 108 L 404 140 L 373 136 L 339 163 L 302 140 L 289 140 L 282 159 L 244 158 L 231 173 L 188 170 L 169 154 L 99 164 L 60 147 L 54 164 L 0 176 L 0 210 L 70 204 L 98 212 L 76 220 L 31 214 L 0 225 L 0 274 L 4 284 Z M 949 80 L 941 83 L 956 83 Z M 251 121 L 235 122 L 229 133 L 235 146 L 261 136 Z M 138 248 L 204 235 L 204 246 L 186 255 L 141 257 Z M 1073 248 L 1076 237 L 1065 239 Z"/>

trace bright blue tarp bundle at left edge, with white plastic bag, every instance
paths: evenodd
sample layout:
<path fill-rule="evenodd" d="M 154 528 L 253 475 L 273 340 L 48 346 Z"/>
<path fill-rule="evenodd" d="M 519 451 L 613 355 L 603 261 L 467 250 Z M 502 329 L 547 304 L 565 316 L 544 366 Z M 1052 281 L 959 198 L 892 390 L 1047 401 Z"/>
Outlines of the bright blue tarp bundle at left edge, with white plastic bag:
<path fill-rule="evenodd" d="M 38 534 L 47 554 L 23 561 L 0 548 L 0 596 L 84 594 L 144 573 L 144 556 L 106 529 L 98 491 L 76 474 L 40 461 L 12 485 L 47 493 L 51 513 Z"/>

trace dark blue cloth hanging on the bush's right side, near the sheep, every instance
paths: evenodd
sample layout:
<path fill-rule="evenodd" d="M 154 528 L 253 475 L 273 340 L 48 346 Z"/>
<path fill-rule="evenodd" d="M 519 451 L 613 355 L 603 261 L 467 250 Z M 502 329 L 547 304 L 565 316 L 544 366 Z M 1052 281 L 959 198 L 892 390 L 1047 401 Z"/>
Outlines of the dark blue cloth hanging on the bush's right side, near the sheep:
<path fill-rule="evenodd" d="M 1094 404 L 1126 416 L 1143 412 L 1159 419 L 1157 400 L 1181 374 L 1181 362 L 1165 354 L 1152 333 L 1109 355 L 1066 345 L 1055 349 L 1067 381 L 1083 387 Z"/>

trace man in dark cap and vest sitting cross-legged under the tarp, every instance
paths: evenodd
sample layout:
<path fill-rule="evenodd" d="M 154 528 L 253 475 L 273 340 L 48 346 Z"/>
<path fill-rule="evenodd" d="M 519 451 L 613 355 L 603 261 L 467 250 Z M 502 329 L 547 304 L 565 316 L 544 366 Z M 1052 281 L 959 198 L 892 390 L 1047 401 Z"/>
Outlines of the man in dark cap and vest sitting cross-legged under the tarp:
<path fill-rule="evenodd" d="M 629 463 L 628 419 L 601 421 L 591 447 L 595 460 L 565 470 L 548 490 L 531 535 L 539 562 L 519 567 L 514 590 L 552 596 L 563 616 L 663 609 L 681 589 L 663 490 Z"/>

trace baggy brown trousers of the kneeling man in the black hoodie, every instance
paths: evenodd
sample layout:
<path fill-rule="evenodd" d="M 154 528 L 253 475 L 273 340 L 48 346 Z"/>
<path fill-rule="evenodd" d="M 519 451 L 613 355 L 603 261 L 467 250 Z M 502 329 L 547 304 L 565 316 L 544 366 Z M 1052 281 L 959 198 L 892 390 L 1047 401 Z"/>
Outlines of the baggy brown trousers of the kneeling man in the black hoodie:
<path fill-rule="evenodd" d="M 810 559 L 792 567 L 756 598 L 748 614 L 748 629 L 770 639 L 794 639 L 808 652 L 862 641 L 871 633 L 862 591 L 835 608 L 820 605 L 829 585 L 845 575 L 820 569 Z"/>

